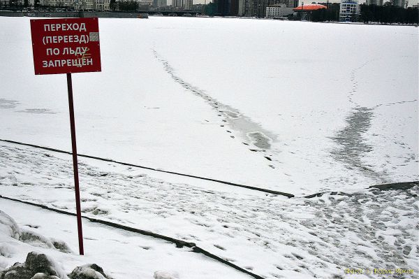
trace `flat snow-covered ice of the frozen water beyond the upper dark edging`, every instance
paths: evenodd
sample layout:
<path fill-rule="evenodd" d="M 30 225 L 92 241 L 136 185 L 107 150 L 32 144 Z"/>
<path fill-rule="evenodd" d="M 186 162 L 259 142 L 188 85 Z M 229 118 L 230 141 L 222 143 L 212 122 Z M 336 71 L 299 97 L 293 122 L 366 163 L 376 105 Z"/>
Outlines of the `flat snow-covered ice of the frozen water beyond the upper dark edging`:
<path fill-rule="evenodd" d="M 65 76 L 34 76 L 29 18 L 0 23 L 0 138 L 71 150 Z M 418 180 L 415 27 L 99 28 L 102 73 L 73 75 L 80 153 L 291 194 Z"/>

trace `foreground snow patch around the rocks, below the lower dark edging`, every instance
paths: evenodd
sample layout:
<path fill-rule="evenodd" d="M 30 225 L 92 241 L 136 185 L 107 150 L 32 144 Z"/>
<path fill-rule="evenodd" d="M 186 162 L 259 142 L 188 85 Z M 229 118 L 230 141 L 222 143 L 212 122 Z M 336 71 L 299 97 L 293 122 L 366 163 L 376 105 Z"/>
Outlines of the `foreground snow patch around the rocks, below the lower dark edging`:
<path fill-rule="evenodd" d="M 83 223 L 86 252 L 80 257 L 74 217 L 5 200 L 1 201 L 1 211 L 18 222 L 19 236 L 12 238 L 8 234 L 10 227 L 2 226 L 4 216 L 0 212 L 0 269 L 15 262 L 24 262 L 28 252 L 36 251 L 58 262 L 63 274 L 71 273 L 75 266 L 100 263 L 105 272 L 115 279 L 152 279 L 156 271 L 190 279 L 251 278 L 203 255 L 196 255 L 190 252 L 190 248 L 175 248 L 175 245 L 163 240 L 91 222 Z M 55 248 L 54 243 L 59 243 L 55 246 L 60 249 Z"/>

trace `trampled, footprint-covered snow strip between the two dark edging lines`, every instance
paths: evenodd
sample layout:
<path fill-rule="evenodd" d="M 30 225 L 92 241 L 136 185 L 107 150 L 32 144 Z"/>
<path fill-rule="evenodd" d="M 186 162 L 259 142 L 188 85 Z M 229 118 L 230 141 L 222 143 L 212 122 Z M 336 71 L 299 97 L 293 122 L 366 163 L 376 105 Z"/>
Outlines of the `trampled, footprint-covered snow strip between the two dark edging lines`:
<path fill-rule="evenodd" d="M 55 156 L 0 145 L 0 194 L 74 211 L 71 158 Z M 346 268 L 419 270 L 418 186 L 286 199 L 80 161 L 84 214 L 197 243 L 266 278 L 351 278 Z"/>

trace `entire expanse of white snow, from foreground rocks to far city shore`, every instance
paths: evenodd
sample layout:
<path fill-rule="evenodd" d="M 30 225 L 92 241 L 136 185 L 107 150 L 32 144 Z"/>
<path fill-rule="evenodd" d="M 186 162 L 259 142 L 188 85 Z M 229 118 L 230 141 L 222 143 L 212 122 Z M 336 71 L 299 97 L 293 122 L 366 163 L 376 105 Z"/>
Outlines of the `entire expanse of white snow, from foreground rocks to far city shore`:
<path fill-rule="evenodd" d="M 71 150 L 65 76 L 34 76 L 28 18 L 0 26 L 0 139 Z M 180 17 L 99 28 L 102 73 L 73 75 L 80 153 L 297 197 L 80 158 L 83 214 L 196 243 L 264 278 L 418 278 L 418 186 L 367 189 L 419 180 L 417 28 Z M 345 194 L 302 198 L 335 190 Z M 71 157 L 0 142 L 0 194 L 73 212 Z M 3 199 L 0 210 L 77 250 L 73 217 Z M 66 272 L 95 262 L 115 279 L 161 266 L 179 279 L 248 278 L 84 226 L 86 257 L 2 236 L 0 268 L 36 250 Z"/>

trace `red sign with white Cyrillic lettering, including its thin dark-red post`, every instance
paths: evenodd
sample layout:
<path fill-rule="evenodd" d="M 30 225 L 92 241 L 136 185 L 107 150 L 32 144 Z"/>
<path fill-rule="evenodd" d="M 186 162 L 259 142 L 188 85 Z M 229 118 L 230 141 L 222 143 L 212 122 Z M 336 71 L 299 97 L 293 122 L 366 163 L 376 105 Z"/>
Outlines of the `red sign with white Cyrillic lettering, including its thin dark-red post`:
<path fill-rule="evenodd" d="M 101 71 L 97 17 L 31 20 L 36 75 L 67 74 L 79 252 L 84 255 L 71 73 Z"/>

